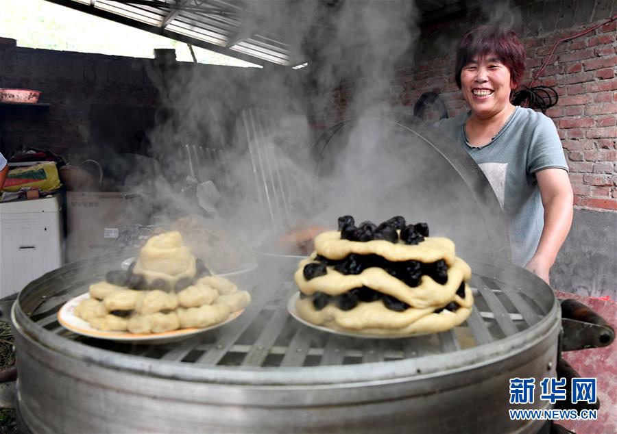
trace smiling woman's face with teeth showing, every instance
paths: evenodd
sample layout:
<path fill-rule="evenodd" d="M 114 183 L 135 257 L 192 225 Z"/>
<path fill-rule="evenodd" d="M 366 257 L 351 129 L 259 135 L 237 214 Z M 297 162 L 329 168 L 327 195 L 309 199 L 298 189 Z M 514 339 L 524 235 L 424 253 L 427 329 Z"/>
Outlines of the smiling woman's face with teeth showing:
<path fill-rule="evenodd" d="M 509 69 L 489 53 L 476 56 L 461 70 L 461 91 L 472 114 L 490 118 L 510 105 L 510 91 L 514 88 Z"/>

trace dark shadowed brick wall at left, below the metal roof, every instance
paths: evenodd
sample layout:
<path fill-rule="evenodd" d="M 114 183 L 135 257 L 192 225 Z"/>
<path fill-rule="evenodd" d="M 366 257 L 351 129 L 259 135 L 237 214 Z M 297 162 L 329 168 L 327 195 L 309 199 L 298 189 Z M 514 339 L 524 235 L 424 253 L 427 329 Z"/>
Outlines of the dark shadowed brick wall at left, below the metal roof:
<path fill-rule="evenodd" d="M 0 88 L 41 90 L 40 102 L 50 104 L 0 106 L 0 150 L 10 155 L 23 145 L 34 146 L 77 164 L 106 152 L 147 153 L 143 135 L 152 133 L 155 124 L 169 127 L 167 136 L 188 136 L 186 124 L 191 123 L 193 129 L 201 128 L 191 139 L 204 137 L 204 124 L 213 122 L 197 108 L 213 101 L 213 88 L 221 99 L 229 97 L 228 88 L 245 92 L 247 77 L 261 71 L 173 62 L 165 71 L 176 75 L 162 79 L 160 65 L 156 59 L 16 47 L 14 40 L 0 38 Z M 222 79 L 234 85 L 220 86 Z M 221 104 L 231 110 L 231 103 Z M 171 115 L 160 110 L 171 106 L 176 110 Z M 168 117 L 167 125 L 161 116 Z M 101 129 L 110 131 L 106 135 Z M 101 144 L 101 135 L 108 143 Z M 171 146 L 167 138 L 163 145 Z"/>

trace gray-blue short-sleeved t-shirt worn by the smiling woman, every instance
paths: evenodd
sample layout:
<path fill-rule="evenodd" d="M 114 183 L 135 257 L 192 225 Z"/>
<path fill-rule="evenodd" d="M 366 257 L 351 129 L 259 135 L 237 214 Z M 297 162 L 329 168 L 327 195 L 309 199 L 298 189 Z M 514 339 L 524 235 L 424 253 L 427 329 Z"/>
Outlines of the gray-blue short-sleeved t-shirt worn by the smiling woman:
<path fill-rule="evenodd" d="M 535 253 L 544 227 L 535 173 L 547 168 L 568 170 L 557 129 L 544 114 L 516 107 L 489 144 L 474 147 L 464 128 L 469 115 L 441 119 L 435 126 L 455 138 L 482 169 L 508 219 L 512 262 L 524 266 Z"/>

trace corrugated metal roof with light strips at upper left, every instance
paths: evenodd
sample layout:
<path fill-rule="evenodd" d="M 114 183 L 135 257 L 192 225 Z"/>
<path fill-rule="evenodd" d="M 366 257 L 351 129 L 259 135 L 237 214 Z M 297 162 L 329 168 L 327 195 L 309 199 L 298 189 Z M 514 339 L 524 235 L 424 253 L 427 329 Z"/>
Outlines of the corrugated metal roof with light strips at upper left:
<path fill-rule="evenodd" d="M 298 35 L 293 36 L 294 27 L 306 18 L 302 16 L 303 1 L 315 0 L 47 1 L 248 62 L 293 67 L 306 62 L 300 53 L 293 52 L 290 42 L 298 42 Z M 323 0 L 319 4 L 336 8 L 342 1 Z M 440 8 L 464 8 L 464 3 L 418 0 L 417 6 L 421 12 L 434 14 Z"/>

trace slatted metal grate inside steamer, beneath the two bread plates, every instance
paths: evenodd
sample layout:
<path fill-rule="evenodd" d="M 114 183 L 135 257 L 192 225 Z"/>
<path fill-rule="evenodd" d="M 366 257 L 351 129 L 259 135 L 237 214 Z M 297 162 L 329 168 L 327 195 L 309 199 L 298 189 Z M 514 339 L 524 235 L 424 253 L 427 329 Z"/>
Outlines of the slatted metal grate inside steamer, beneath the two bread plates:
<path fill-rule="evenodd" d="M 287 311 L 287 301 L 297 291 L 289 281 L 255 283 L 253 288 L 245 288 L 252 292 L 252 303 L 237 320 L 180 342 L 124 344 L 84 337 L 64 329 L 57 320 L 60 307 L 73 296 L 86 292 L 90 283 L 102 279 L 106 271 L 117 267 L 125 257 L 126 253 L 116 253 L 96 261 L 81 261 L 32 282 L 19 297 L 16 323 L 36 340 L 47 340 L 48 346 L 49 342 L 52 345 L 60 342 L 74 354 L 83 353 L 87 346 L 104 350 L 107 356 L 116 353 L 150 365 L 180 363 L 197 368 L 259 370 L 419 361 L 427 356 L 445 356 L 451 364 L 456 359 L 450 357 L 452 353 L 462 355 L 463 352 L 476 359 L 488 353 L 503 356 L 512 348 L 508 343 L 511 337 L 528 333 L 547 320 L 551 312 L 553 321 L 558 318 L 555 296 L 547 285 L 516 266 L 485 258 L 468 259 L 474 270 L 471 316 L 461 327 L 444 333 L 377 340 L 312 329 Z M 430 370 L 429 366 L 431 363 L 424 367 L 418 364 L 418 373 Z M 439 363 L 436 366 L 432 369 L 438 369 Z"/>

